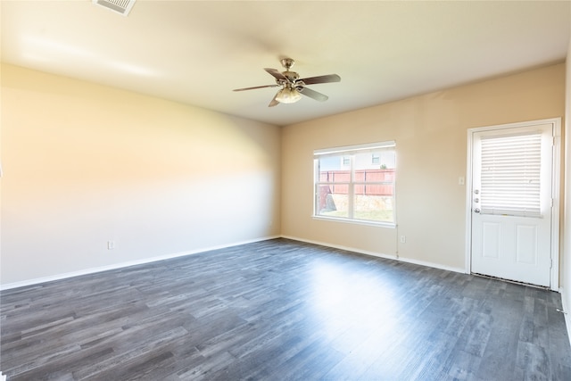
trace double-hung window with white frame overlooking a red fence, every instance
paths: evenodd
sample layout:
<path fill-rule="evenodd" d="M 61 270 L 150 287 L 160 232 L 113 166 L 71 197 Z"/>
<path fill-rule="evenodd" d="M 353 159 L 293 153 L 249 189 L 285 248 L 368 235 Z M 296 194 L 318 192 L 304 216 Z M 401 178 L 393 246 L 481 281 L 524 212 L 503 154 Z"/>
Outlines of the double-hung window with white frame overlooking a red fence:
<path fill-rule="evenodd" d="M 394 142 L 314 152 L 314 216 L 394 225 Z"/>

